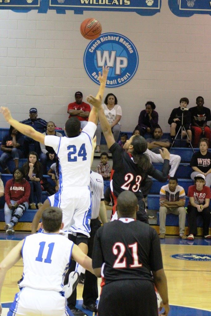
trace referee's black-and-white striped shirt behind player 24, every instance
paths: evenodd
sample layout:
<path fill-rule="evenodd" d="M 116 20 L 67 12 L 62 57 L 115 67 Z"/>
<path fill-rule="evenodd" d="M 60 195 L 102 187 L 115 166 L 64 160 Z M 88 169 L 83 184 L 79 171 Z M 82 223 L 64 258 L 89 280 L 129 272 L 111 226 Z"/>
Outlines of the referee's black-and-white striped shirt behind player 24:
<path fill-rule="evenodd" d="M 99 216 L 100 201 L 104 201 L 103 177 L 97 172 L 90 173 L 90 191 L 92 193 L 91 219 L 95 219 Z"/>

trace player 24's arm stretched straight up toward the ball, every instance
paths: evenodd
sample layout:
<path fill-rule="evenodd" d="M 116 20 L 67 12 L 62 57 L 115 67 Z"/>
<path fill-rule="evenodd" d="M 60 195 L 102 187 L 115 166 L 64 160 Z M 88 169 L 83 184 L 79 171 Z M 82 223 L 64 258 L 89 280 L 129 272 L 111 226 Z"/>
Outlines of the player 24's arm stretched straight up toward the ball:
<path fill-rule="evenodd" d="M 101 75 L 101 72 L 99 71 L 100 86 L 99 86 L 98 93 L 96 95 L 96 99 L 98 99 L 98 100 L 99 100 L 100 96 L 101 96 L 101 99 L 103 98 L 103 94 L 104 94 L 104 90 L 105 90 L 105 84 L 106 84 L 106 80 L 107 80 L 107 76 L 108 76 L 108 71 L 109 71 L 109 68 L 107 66 L 105 66 L 105 68 L 103 67 L 102 75 Z M 89 97 L 87 97 L 86 100 L 89 103 L 91 103 L 89 101 Z M 94 124 L 97 125 L 97 122 L 98 122 L 98 111 L 97 111 L 97 109 L 95 107 L 92 108 L 92 110 L 91 110 L 91 112 L 89 114 L 89 120 L 88 121 L 89 122 L 93 122 Z"/>

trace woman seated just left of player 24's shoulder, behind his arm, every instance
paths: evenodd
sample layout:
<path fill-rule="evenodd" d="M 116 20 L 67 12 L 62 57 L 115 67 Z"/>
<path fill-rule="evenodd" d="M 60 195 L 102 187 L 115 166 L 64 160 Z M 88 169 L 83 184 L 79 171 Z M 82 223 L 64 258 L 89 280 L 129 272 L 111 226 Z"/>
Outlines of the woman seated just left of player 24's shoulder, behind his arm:
<path fill-rule="evenodd" d="M 62 137 L 62 134 L 55 131 L 55 124 L 52 121 L 47 123 L 47 131 L 43 133 L 44 135 L 54 135 L 58 137 Z M 42 163 L 43 174 L 47 174 L 47 162 L 51 161 L 55 162 L 56 153 L 53 147 L 45 146 L 44 144 L 40 143 L 40 148 L 42 153 L 40 154 L 40 162 Z"/>

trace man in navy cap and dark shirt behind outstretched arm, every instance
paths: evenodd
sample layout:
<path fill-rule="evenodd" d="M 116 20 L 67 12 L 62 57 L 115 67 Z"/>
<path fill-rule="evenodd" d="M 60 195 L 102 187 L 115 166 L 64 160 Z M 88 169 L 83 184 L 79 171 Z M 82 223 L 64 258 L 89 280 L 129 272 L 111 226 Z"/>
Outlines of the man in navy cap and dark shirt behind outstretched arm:
<path fill-rule="evenodd" d="M 32 126 L 36 131 L 44 133 L 47 128 L 47 122 L 44 119 L 37 119 L 37 109 L 35 107 L 29 110 L 29 119 L 21 121 L 21 123 Z M 29 154 L 29 144 L 34 144 L 35 152 L 39 155 L 40 153 L 40 143 L 36 142 L 34 139 L 24 136 L 24 154 L 25 157 Z"/>

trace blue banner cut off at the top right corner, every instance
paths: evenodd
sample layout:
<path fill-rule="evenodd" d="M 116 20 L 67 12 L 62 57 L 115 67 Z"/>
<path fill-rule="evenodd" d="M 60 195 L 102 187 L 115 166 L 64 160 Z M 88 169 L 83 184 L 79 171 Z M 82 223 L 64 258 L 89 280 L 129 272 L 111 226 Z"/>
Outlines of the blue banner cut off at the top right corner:
<path fill-rule="evenodd" d="M 211 1 L 208 0 L 169 0 L 169 8 L 177 16 L 211 14 Z"/>

